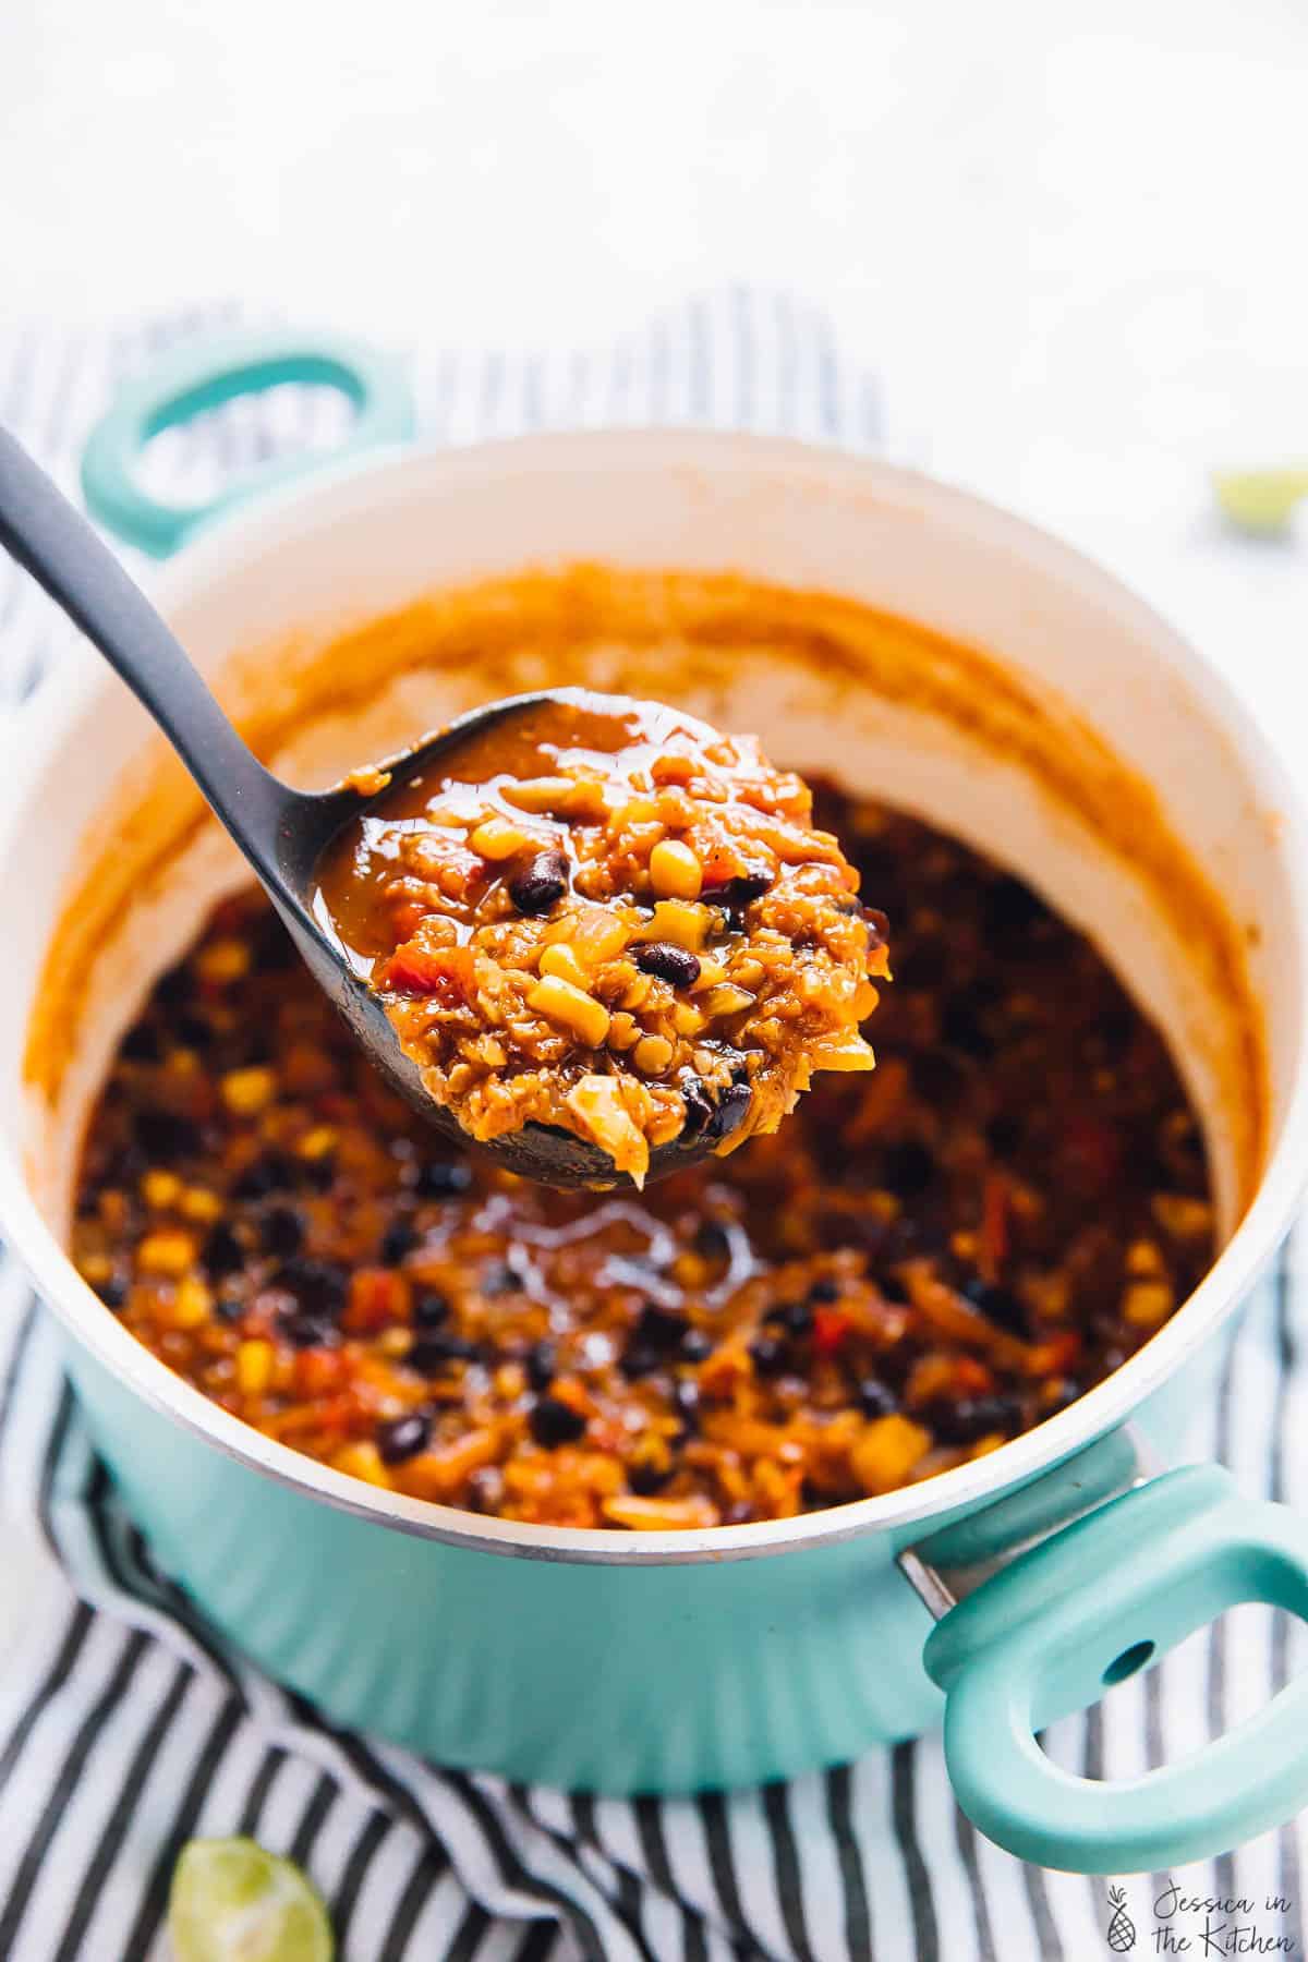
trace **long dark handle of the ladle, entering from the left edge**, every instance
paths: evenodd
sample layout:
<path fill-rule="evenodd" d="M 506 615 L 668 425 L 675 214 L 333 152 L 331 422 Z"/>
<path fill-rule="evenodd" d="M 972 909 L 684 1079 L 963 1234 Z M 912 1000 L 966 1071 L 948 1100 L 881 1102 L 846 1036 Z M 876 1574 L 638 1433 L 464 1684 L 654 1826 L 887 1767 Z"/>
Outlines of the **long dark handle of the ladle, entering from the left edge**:
<path fill-rule="evenodd" d="M 278 889 L 294 793 L 259 763 L 171 628 L 63 490 L 0 430 L 0 545 L 151 712 L 255 871 Z"/>

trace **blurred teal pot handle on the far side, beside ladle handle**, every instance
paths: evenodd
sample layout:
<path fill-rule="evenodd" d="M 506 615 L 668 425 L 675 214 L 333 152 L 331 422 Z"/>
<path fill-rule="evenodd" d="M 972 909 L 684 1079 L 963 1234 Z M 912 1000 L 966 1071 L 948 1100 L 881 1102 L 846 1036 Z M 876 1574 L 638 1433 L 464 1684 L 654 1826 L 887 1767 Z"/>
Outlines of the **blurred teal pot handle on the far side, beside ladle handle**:
<path fill-rule="evenodd" d="M 196 504 L 169 504 L 141 487 L 135 473 L 151 438 L 206 408 L 278 383 L 339 388 L 355 408 L 345 441 L 329 455 L 300 451 L 275 457 Z M 404 367 L 363 341 L 286 330 L 204 336 L 120 388 L 82 453 L 82 496 L 106 530 L 167 559 L 214 518 L 257 492 L 335 467 L 359 451 L 404 443 L 412 434 L 414 398 Z"/>

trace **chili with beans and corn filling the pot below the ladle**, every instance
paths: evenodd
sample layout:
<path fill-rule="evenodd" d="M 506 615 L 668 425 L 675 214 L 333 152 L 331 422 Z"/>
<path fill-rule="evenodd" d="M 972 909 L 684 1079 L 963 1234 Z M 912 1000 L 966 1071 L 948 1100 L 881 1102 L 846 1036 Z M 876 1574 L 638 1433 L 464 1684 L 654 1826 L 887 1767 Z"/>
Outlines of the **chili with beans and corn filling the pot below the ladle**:
<path fill-rule="evenodd" d="M 122 1042 L 75 1254 L 269 1436 L 569 1526 L 786 1517 L 994 1450 L 1118 1368 L 1212 1260 L 1169 1054 L 1084 938 L 835 789 L 892 918 L 875 1075 L 647 1193 L 431 1156 L 261 897 Z"/>

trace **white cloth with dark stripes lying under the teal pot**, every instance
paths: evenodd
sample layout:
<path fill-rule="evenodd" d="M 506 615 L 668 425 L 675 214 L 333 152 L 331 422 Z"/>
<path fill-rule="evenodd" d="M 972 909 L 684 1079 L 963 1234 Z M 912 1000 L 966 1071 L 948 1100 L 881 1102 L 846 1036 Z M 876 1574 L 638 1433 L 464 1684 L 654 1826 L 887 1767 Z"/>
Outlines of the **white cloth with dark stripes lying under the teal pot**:
<path fill-rule="evenodd" d="M 118 375 L 196 310 L 114 337 L 0 339 L 0 420 L 75 487 L 76 451 Z M 875 385 L 826 320 L 786 296 L 724 292 L 594 355 L 416 363 L 422 424 L 461 441 L 535 424 L 726 422 L 879 445 Z M 188 492 L 318 441 L 312 390 L 233 404 L 161 439 L 151 471 Z M 63 628 L 0 565 L 0 683 L 22 697 Z M 1298 1340 L 1308 1240 L 1283 1252 L 1194 1411 L 1192 1456 L 1245 1491 L 1308 1503 L 1308 1369 Z M 163 1962 L 176 1850 L 251 1833 L 322 1887 L 343 1962 L 1088 1962 L 1110 1954 L 1106 1882 L 998 1852 L 957 1813 L 937 1738 L 788 1785 L 635 1803 L 441 1772 L 333 1730 L 226 1650 L 116 1501 L 16 1267 L 0 1264 L 0 1493 L 18 1572 L 45 1572 L 0 1681 L 0 1962 Z M 31 1554 L 24 1554 L 31 1548 Z M 37 1554 L 35 1548 L 41 1548 Z M 53 1564 L 51 1564 L 53 1556 Z M 24 1558 L 31 1562 L 24 1566 Z M 1122 1778 L 1257 1707 L 1304 1630 L 1241 1609 L 1159 1670 L 1051 1730 L 1051 1756 Z M 1302 1950 L 1308 1842 L 1284 1829 L 1175 1876 L 1245 1895 L 1263 1940 Z M 1173 1876 L 1126 1882 L 1137 1952 L 1157 1950 Z M 1283 1897 L 1284 1907 L 1269 1907 Z M 1167 1905 L 1167 1903 L 1163 1903 Z M 1188 1911 L 1167 1923 L 1202 1952 Z M 1202 1917 L 1200 1917 L 1202 1919 Z M 1182 1950 L 1184 1952 L 1184 1950 Z"/>

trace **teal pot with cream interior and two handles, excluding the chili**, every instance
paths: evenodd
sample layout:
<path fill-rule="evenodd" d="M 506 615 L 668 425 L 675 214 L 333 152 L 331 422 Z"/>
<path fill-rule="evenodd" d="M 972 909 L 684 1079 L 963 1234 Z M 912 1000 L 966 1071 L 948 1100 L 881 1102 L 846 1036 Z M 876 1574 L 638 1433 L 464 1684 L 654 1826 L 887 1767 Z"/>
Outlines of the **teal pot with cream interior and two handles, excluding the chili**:
<path fill-rule="evenodd" d="M 351 394 L 349 455 L 282 467 L 296 481 L 243 485 L 222 506 L 169 510 L 139 489 L 151 434 L 286 379 Z M 371 353 L 263 337 L 184 355 L 88 451 L 88 502 L 108 526 L 155 555 L 186 545 L 157 598 L 237 716 L 271 728 L 280 714 L 278 767 L 329 781 L 478 691 L 504 693 L 502 663 L 528 659 L 506 632 L 514 593 L 579 563 L 733 573 L 879 608 L 884 645 L 861 667 L 798 667 L 759 632 L 720 636 L 702 671 L 671 649 L 667 671 L 682 700 L 759 728 L 784 761 L 877 783 L 981 844 L 1124 955 L 1202 1112 L 1224 1246 L 1130 1364 L 1035 1432 L 796 1521 L 531 1528 L 375 1491 L 257 1436 L 139 1348 L 63 1250 L 76 1136 L 112 1046 L 241 877 L 135 702 L 90 657 L 71 661 L 6 736 L 0 1214 L 159 1560 L 329 1717 L 447 1764 L 690 1791 L 847 1760 L 943 1711 L 963 1805 L 1049 1866 L 1159 1868 L 1288 1817 L 1308 1799 L 1302 1683 L 1200 1762 L 1132 1785 L 1069 1778 L 1033 1736 L 1235 1601 L 1308 1615 L 1308 1530 L 1292 1515 L 1243 1503 L 1216 1468 L 1143 1473 L 1149 1446 L 1167 1462 L 1169 1401 L 1212 1366 L 1284 1232 L 1308 1146 L 1308 857 L 1273 748 L 1116 581 L 924 477 L 686 430 L 431 451 L 408 424 L 402 383 Z M 539 577 L 514 583 L 526 569 Z M 369 622 L 408 608 L 404 632 L 449 638 L 459 606 L 439 594 L 477 589 L 484 608 L 486 581 L 508 581 L 494 673 L 473 659 L 390 673 Z M 930 630 L 916 655 L 894 620 Z M 1006 742 L 994 718 L 984 730 L 957 712 L 959 647 L 990 675 Z M 628 659 L 616 634 L 594 647 L 594 679 L 622 685 Z M 318 695 L 286 722 L 306 675 Z M 1039 767 L 1041 730 L 1057 769 Z M 1132 828 L 1139 852 L 1124 848 Z M 92 865 L 108 899 L 65 946 Z M 1179 903 L 1214 889 L 1216 926 Z"/>

